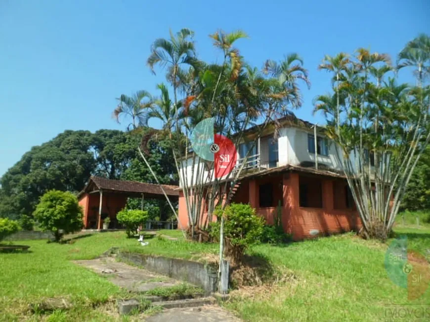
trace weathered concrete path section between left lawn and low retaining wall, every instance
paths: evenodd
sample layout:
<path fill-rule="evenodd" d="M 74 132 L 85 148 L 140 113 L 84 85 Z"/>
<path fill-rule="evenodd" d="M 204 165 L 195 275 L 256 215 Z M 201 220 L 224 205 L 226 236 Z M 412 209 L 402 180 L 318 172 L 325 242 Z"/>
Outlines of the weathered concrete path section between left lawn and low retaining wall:
<path fill-rule="evenodd" d="M 112 257 L 76 260 L 74 262 L 101 275 L 106 274 L 110 282 L 133 292 L 144 292 L 156 287 L 169 287 L 179 283 L 169 277 L 116 262 Z"/>

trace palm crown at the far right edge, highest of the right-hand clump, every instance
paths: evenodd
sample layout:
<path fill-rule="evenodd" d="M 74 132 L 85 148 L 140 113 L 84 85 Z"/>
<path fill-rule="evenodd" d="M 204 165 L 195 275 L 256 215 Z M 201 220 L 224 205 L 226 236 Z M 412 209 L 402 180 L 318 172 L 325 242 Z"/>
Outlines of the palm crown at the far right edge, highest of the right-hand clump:
<path fill-rule="evenodd" d="M 404 67 L 415 67 L 418 86 L 430 75 L 430 37 L 421 34 L 409 41 L 397 57 L 397 70 Z"/>

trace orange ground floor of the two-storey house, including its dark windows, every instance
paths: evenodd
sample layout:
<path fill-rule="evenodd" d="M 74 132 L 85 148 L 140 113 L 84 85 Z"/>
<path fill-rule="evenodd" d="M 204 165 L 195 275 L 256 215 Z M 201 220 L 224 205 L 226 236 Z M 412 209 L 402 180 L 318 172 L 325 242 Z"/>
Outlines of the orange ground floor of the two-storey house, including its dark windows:
<path fill-rule="evenodd" d="M 294 240 L 361 228 L 346 180 L 334 172 L 289 165 L 245 175 L 234 188 L 231 202 L 249 203 L 268 224 L 274 223 L 280 202 L 284 231 Z M 206 216 L 204 212 L 202 222 Z M 188 226 L 182 191 L 179 221 Z"/>

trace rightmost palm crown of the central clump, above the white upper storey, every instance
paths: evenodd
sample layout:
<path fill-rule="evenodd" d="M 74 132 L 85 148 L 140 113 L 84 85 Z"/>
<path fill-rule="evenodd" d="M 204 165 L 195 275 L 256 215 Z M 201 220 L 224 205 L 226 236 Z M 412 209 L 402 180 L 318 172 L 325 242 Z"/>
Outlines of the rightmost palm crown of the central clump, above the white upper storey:
<path fill-rule="evenodd" d="M 310 81 L 309 73 L 303 68 L 303 60 L 299 54 L 289 54 L 280 62 L 267 60 L 263 71 L 278 79 L 278 82 L 284 87 L 285 96 L 290 97 L 289 103 L 293 107 L 301 107 L 301 93 L 298 80 L 301 79 L 304 81 L 308 88 L 310 88 Z"/>

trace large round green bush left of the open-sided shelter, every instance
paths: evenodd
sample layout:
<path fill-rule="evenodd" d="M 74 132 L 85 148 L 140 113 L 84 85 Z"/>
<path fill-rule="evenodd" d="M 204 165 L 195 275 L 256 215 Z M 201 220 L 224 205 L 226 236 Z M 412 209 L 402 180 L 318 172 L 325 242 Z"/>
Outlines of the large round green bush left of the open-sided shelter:
<path fill-rule="evenodd" d="M 64 233 L 79 231 L 82 226 L 82 208 L 71 192 L 46 192 L 36 206 L 35 219 L 44 231 L 52 231 L 58 242 Z"/>

